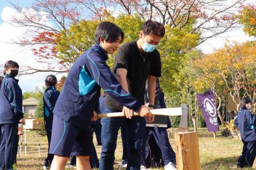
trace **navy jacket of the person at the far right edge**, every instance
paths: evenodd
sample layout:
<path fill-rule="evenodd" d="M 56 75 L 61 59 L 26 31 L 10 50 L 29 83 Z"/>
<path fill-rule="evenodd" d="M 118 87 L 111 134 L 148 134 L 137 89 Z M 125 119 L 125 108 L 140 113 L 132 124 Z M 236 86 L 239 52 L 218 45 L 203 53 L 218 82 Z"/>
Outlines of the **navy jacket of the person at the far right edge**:
<path fill-rule="evenodd" d="M 254 127 L 255 117 L 250 113 L 250 110 L 240 108 L 237 118 L 235 118 L 234 124 L 239 126 L 240 135 L 243 141 L 255 141 L 256 130 Z"/>

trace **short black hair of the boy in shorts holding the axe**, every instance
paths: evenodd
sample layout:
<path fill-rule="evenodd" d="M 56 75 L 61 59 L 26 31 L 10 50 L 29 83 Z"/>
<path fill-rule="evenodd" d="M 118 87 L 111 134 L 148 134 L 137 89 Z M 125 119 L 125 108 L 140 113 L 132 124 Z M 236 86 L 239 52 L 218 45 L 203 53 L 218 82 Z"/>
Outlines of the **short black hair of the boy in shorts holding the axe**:
<path fill-rule="evenodd" d="M 104 21 L 104 22 L 101 22 L 99 26 L 97 26 L 94 41 L 99 43 L 99 39 L 102 38 L 107 42 L 115 42 L 120 35 L 123 40 L 124 32 L 122 32 L 122 29 L 119 26 L 117 26 L 112 22 Z"/>

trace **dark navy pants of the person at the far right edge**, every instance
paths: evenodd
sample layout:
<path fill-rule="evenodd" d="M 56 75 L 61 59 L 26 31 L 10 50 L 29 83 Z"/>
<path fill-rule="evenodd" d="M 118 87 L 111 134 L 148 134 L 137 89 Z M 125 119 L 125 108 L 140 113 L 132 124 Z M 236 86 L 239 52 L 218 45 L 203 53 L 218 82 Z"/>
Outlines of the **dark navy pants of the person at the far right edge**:
<path fill-rule="evenodd" d="M 245 166 L 250 166 L 254 164 L 254 159 L 256 156 L 256 141 L 244 142 L 242 155 L 239 157 L 237 166 L 243 168 Z"/>

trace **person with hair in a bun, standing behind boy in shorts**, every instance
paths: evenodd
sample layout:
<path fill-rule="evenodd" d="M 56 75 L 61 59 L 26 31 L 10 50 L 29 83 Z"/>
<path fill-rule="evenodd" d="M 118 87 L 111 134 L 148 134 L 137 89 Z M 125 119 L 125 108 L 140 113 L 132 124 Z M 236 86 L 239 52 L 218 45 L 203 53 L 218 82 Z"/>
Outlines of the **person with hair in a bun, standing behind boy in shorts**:
<path fill-rule="evenodd" d="M 55 85 L 57 83 L 57 78 L 55 75 L 48 75 L 44 81 L 46 85 L 46 91 L 44 92 L 44 127 L 46 129 L 47 140 L 48 140 L 48 154 L 47 158 L 44 160 L 43 169 L 50 169 L 52 164 L 53 154 L 49 154 L 49 148 L 51 144 L 52 136 L 52 120 L 53 120 L 53 109 L 59 97 L 59 91 L 56 90 Z"/>

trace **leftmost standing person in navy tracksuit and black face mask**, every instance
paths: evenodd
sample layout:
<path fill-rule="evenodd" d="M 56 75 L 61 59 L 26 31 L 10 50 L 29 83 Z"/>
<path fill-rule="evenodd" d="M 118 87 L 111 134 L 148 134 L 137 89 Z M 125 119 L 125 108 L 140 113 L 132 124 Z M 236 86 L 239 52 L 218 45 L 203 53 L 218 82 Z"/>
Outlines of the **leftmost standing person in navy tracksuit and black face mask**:
<path fill-rule="evenodd" d="M 4 65 L 6 75 L 0 90 L 0 169 L 13 169 L 16 163 L 18 123 L 25 123 L 22 113 L 22 91 L 14 77 L 19 72 L 17 62 L 9 60 Z"/>

